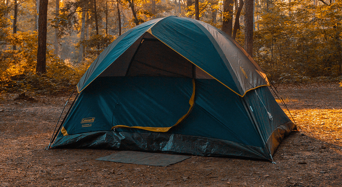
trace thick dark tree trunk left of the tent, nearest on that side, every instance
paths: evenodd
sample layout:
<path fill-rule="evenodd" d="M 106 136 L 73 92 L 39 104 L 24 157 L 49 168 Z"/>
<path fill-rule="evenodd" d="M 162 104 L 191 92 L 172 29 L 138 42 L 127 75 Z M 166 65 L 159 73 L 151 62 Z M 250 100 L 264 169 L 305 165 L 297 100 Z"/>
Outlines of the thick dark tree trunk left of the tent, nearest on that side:
<path fill-rule="evenodd" d="M 38 52 L 37 52 L 37 66 L 36 66 L 36 73 L 38 75 L 43 75 L 46 72 L 47 14 L 48 14 L 48 0 L 40 0 L 39 19 L 38 19 Z"/>

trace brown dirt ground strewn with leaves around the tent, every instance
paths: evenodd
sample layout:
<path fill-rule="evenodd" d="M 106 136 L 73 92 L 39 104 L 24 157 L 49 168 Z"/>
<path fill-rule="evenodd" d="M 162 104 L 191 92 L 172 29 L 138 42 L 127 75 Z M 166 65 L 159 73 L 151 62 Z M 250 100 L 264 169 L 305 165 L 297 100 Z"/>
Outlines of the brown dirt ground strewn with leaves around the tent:
<path fill-rule="evenodd" d="M 342 186 L 342 88 L 338 83 L 277 88 L 301 131 L 280 144 L 273 155 L 276 164 L 193 156 L 155 167 L 95 160 L 115 150 L 44 150 L 68 96 L 2 96 L 0 187 Z"/>

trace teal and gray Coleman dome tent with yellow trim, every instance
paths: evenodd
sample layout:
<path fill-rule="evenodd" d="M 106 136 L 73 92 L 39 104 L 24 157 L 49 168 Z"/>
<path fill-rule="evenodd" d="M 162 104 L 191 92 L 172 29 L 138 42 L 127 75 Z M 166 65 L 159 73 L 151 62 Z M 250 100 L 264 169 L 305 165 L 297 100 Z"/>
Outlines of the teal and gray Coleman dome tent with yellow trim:
<path fill-rule="evenodd" d="M 150 20 L 91 64 L 52 147 L 272 160 L 295 125 L 268 85 L 221 30 L 176 16 Z"/>

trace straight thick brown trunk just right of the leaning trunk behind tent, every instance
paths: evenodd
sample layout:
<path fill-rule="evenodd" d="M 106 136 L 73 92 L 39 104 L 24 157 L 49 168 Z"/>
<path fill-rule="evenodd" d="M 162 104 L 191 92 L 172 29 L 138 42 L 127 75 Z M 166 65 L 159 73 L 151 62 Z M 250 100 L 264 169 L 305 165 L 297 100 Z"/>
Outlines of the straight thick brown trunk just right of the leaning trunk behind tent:
<path fill-rule="evenodd" d="M 245 50 L 253 56 L 253 0 L 246 0 L 245 13 Z"/>

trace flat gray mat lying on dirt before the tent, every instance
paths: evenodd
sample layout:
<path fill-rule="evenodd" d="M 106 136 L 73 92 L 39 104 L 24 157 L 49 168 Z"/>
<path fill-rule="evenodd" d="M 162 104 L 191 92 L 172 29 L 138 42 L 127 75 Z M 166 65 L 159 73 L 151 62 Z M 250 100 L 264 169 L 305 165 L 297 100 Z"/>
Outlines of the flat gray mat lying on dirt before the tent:
<path fill-rule="evenodd" d="M 170 164 L 180 162 L 187 158 L 190 158 L 190 156 L 163 153 L 145 153 L 138 151 L 120 151 L 112 155 L 96 158 L 95 160 L 133 163 L 148 166 L 169 166 Z"/>

